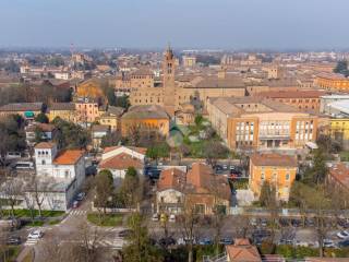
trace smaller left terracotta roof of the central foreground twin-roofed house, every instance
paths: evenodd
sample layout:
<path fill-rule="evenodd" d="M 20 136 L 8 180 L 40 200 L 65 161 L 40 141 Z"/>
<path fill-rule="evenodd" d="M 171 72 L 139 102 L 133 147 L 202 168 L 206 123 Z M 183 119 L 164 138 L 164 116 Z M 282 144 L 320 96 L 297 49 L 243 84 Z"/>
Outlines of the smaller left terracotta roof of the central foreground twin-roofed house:
<path fill-rule="evenodd" d="M 157 181 L 157 190 L 176 189 L 183 191 L 185 187 L 185 172 L 178 168 L 163 170 Z"/>

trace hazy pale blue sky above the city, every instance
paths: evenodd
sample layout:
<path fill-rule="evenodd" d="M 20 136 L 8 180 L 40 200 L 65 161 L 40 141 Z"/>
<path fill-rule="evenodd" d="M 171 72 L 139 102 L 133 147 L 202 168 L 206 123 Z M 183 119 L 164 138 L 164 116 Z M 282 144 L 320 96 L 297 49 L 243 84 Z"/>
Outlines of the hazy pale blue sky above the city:
<path fill-rule="evenodd" d="M 349 0 L 0 0 L 0 47 L 349 48 Z"/>

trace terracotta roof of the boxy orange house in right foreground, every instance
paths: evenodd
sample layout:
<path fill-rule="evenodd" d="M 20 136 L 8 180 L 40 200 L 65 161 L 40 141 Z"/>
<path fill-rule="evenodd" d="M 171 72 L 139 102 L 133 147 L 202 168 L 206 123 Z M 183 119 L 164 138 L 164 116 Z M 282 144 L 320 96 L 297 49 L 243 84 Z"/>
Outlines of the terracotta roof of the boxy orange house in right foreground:
<path fill-rule="evenodd" d="M 254 154 L 251 156 L 251 162 L 255 166 L 287 166 L 297 167 L 296 157 L 279 154 Z"/>

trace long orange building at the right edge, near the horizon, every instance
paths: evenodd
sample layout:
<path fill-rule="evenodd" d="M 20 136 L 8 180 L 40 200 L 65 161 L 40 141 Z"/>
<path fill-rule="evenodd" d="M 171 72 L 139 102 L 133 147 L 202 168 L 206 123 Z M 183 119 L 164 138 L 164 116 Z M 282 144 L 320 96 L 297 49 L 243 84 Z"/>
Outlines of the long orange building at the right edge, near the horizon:
<path fill-rule="evenodd" d="M 321 73 L 315 79 L 315 85 L 328 91 L 349 92 L 349 79 L 341 74 Z"/>

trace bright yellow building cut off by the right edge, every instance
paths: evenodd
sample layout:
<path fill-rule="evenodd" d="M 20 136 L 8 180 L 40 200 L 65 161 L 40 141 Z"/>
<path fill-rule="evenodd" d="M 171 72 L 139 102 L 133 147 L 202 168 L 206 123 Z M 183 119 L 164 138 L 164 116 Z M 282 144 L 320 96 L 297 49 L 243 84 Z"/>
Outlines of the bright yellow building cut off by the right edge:
<path fill-rule="evenodd" d="M 349 118 L 330 119 L 330 136 L 340 142 L 344 148 L 349 148 Z"/>

